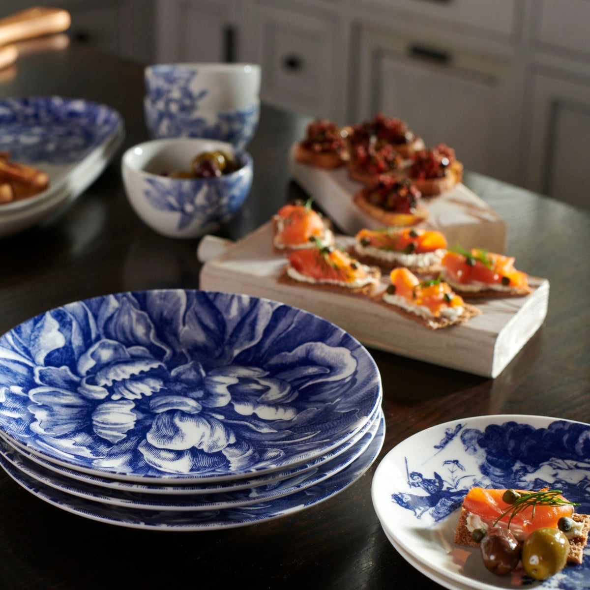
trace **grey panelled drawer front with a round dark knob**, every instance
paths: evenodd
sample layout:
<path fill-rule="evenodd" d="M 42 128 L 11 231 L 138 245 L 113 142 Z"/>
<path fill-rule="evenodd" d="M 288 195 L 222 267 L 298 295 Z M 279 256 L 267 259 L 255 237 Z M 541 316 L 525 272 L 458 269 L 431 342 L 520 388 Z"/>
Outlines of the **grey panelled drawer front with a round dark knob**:
<path fill-rule="evenodd" d="M 335 88 L 334 22 L 273 6 L 257 8 L 261 97 L 312 116 L 329 116 Z"/>

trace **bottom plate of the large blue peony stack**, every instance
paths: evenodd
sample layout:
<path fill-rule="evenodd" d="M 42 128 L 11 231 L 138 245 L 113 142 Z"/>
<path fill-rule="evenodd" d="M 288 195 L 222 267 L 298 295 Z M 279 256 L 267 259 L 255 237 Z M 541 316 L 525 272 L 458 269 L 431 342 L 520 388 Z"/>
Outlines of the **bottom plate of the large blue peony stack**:
<path fill-rule="evenodd" d="M 100 502 L 76 498 L 60 490 L 54 490 L 12 466 L 0 456 L 0 466 L 12 479 L 35 496 L 68 512 L 112 525 L 136 529 L 194 531 L 206 529 L 228 529 L 238 526 L 255 525 L 281 516 L 300 512 L 327 500 L 361 477 L 381 450 L 385 437 L 385 419 L 379 421 L 379 428 L 367 450 L 339 473 L 305 490 L 297 491 L 282 498 L 268 500 L 233 509 L 203 510 L 194 512 L 160 511 L 151 512 L 133 508 L 109 506 Z"/>

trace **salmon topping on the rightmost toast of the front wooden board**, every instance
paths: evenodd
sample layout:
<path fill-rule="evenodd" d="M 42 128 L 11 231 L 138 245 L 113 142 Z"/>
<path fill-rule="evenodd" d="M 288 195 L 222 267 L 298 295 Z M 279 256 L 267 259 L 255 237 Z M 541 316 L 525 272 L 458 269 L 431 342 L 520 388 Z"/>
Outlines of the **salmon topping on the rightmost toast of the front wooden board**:
<path fill-rule="evenodd" d="M 457 283 L 503 284 L 510 287 L 527 287 L 526 273 L 514 268 L 514 258 L 473 248 L 468 255 L 448 251 L 442 258 L 442 267 Z"/>

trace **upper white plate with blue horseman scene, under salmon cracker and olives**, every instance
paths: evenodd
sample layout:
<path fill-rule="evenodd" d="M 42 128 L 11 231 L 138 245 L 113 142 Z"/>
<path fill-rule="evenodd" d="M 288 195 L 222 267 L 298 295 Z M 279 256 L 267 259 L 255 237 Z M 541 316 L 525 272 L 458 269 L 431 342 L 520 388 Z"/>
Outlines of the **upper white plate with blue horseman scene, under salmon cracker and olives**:
<path fill-rule="evenodd" d="M 470 487 L 549 486 L 580 503 L 576 512 L 588 514 L 589 477 L 590 425 L 539 416 L 481 416 L 428 428 L 389 451 L 375 471 L 372 499 L 396 546 L 457 587 L 581 590 L 590 585 L 588 549 L 584 563 L 567 565 L 540 583 L 522 569 L 507 578 L 494 575 L 478 549 L 454 544 L 454 534 Z"/>

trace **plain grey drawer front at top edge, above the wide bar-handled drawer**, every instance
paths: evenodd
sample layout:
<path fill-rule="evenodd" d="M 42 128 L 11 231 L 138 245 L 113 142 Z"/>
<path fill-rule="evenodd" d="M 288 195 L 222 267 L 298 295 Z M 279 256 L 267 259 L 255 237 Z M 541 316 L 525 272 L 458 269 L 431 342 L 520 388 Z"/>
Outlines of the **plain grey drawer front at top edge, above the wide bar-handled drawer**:
<path fill-rule="evenodd" d="M 445 27 L 465 25 L 510 35 L 517 26 L 517 0 L 365 0 L 363 4 L 369 9 L 369 5 L 399 8 Z"/>

